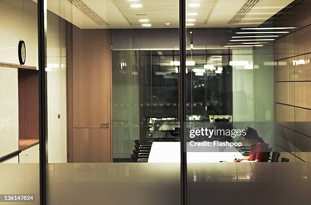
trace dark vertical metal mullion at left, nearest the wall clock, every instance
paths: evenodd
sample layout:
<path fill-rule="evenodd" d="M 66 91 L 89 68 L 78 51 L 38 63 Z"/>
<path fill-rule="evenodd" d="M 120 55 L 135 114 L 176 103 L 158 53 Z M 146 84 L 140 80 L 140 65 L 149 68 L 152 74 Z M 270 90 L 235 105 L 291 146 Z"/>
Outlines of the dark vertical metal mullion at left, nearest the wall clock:
<path fill-rule="evenodd" d="M 46 116 L 46 32 L 47 0 L 38 0 L 38 63 L 39 63 L 39 154 L 40 204 L 46 204 L 47 116 Z"/>

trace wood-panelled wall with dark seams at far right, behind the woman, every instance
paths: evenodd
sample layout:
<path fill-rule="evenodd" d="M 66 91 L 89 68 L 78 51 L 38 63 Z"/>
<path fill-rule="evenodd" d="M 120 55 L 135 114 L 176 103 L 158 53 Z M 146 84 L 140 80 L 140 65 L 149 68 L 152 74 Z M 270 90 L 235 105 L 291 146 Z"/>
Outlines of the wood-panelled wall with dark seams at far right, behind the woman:
<path fill-rule="evenodd" d="M 288 30 L 288 35 L 274 42 L 275 136 L 277 143 L 296 155 L 295 161 L 311 160 L 311 15 L 307 12 L 309 8 L 311 2 L 302 0 L 293 8 L 283 10 L 284 13 L 274 20 L 275 27 L 295 27 Z"/>

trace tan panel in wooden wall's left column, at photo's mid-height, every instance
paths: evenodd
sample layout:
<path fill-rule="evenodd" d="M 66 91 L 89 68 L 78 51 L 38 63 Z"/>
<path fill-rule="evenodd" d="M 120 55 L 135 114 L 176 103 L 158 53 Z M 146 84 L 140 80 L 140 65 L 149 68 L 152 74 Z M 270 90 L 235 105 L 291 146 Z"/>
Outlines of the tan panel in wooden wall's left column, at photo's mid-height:
<path fill-rule="evenodd" d="M 294 82 L 275 82 L 275 102 L 294 105 Z"/>

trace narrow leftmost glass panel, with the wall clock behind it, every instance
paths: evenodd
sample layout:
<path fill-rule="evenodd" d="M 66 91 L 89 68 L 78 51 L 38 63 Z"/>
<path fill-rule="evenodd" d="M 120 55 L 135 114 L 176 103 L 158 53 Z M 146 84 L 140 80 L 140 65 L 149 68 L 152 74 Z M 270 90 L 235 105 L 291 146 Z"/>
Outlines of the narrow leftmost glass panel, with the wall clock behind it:
<path fill-rule="evenodd" d="M 39 204 L 37 4 L 1 1 L 0 19 L 0 202 Z"/>

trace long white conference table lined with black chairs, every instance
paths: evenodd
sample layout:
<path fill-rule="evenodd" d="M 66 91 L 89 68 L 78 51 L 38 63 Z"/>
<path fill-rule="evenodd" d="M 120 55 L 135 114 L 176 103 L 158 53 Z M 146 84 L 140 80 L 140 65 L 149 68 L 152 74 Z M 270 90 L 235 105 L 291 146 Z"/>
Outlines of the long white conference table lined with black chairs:
<path fill-rule="evenodd" d="M 205 148 L 204 152 L 187 152 L 187 163 L 233 162 L 234 158 L 244 158 L 235 147 L 213 147 Z M 148 163 L 174 162 L 180 163 L 180 142 L 152 142 Z"/>

